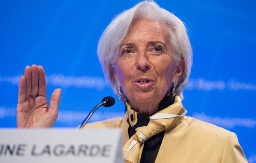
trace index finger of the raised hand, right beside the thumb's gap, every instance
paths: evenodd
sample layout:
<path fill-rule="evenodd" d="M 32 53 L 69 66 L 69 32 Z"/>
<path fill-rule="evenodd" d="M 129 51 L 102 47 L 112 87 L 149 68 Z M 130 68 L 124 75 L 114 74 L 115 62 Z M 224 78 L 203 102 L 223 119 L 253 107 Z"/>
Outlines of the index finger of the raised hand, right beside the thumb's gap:
<path fill-rule="evenodd" d="M 42 66 L 38 66 L 38 96 L 46 96 L 46 79 L 45 70 Z"/>

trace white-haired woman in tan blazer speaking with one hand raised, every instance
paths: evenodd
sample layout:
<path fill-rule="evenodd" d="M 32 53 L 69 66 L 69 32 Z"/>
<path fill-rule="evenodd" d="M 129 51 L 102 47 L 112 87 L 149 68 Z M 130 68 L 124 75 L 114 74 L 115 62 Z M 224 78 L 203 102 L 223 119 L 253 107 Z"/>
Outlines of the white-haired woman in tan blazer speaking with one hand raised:
<path fill-rule="evenodd" d="M 126 115 L 86 127 L 123 130 L 126 162 L 246 162 L 233 132 L 185 116 L 182 90 L 192 52 L 186 28 L 152 1 L 115 17 L 103 32 L 98 57 L 105 76 L 126 104 Z M 41 66 L 25 68 L 19 83 L 17 126 L 52 127 L 61 89 L 47 107 Z"/>

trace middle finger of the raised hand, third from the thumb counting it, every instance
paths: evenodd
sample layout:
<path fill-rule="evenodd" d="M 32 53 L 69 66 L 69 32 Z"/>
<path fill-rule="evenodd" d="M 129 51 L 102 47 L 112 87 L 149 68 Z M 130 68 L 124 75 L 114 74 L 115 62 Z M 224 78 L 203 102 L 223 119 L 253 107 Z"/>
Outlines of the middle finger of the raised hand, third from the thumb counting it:
<path fill-rule="evenodd" d="M 37 96 L 38 92 L 38 68 L 37 65 L 31 66 L 31 96 Z"/>

